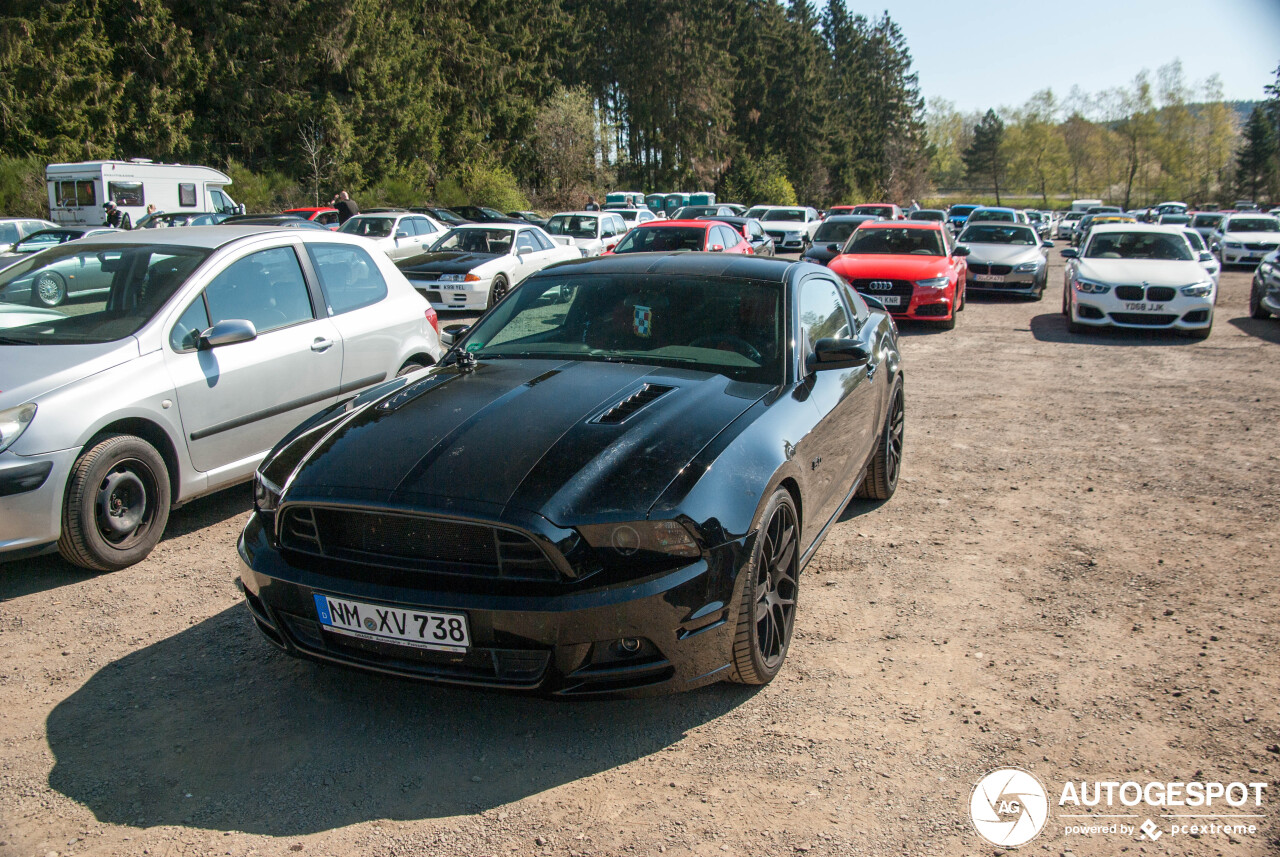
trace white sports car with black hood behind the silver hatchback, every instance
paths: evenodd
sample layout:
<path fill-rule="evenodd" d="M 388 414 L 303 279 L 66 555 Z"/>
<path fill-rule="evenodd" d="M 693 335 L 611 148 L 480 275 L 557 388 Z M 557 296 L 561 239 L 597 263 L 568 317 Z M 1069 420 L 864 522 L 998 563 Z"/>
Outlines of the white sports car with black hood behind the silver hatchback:
<path fill-rule="evenodd" d="M 582 258 L 539 226 L 467 224 L 396 266 L 435 310 L 485 310 L 552 262 Z"/>

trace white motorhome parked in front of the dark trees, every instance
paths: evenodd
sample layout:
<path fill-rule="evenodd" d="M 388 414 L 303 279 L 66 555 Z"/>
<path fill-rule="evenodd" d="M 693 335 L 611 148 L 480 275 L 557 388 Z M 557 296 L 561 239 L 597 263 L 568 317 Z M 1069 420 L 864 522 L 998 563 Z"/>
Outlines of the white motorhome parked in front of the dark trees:
<path fill-rule="evenodd" d="M 65 225 L 100 226 L 104 206 L 114 201 L 129 223 L 156 211 L 236 214 L 242 207 L 227 193 L 232 179 L 207 166 L 131 161 L 82 161 L 45 168 L 51 220 Z"/>

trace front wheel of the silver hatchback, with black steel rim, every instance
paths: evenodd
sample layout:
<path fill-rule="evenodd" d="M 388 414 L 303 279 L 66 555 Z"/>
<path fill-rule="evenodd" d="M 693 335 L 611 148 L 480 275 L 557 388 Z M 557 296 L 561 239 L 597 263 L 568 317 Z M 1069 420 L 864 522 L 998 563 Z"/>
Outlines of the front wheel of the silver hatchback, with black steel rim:
<path fill-rule="evenodd" d="M 133 435 L 102 437 L 72 467 L 58 550 L 69 563 L 116 572 L 142 562 L 169 522 L 169 469 Z"/>

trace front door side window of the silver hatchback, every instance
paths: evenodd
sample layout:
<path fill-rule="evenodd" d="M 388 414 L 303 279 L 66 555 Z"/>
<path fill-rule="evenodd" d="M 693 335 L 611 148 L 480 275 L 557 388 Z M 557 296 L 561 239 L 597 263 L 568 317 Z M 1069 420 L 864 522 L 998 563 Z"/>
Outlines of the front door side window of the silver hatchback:
<path fill-rule="evenodd" d="M 247 318 L 257 333 L 312 318 L 311 298 L 292 247 L 236 260 L 205 289 L 211 324 Z"/>

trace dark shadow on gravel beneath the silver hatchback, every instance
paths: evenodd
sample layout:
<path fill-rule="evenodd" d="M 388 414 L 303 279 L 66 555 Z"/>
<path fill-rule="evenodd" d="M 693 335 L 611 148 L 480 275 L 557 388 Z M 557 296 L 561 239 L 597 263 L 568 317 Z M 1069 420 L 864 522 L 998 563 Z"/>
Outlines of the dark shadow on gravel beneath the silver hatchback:
<path fill-rule="evenodd" d="M 160 544 L 164 545 L 170 539 L 197 532 L 228 518 L 247 515 L 252 508 L 253 495 L 247 484 L 192 500 L 180 509 L 169 513 L 169 524 L 164 530 Z M 9 560 L 0 563 L 0 601 L 82 583 L 101 573 L 73 565 L 56 551 Z M 120 573 L 128 574 L 127 570 Z"/>

